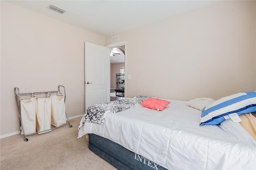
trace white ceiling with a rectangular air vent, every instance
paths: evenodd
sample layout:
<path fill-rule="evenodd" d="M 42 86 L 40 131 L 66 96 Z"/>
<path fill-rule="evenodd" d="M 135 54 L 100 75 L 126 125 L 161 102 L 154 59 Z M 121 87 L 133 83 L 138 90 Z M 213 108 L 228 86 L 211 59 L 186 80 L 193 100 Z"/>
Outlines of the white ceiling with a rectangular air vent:
<path fill-rule="evenodd" d="M 7 0 L 101 36 L 110 36 L 221 0 Z M 49 4 L 66 10 L 60 14 Z"/>

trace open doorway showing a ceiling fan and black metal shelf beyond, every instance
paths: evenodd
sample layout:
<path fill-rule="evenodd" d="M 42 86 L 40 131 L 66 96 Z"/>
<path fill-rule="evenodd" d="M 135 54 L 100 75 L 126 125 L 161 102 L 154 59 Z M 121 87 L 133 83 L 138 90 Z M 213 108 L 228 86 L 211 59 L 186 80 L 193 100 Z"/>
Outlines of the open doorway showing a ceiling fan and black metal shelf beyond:
<path fill-rule="evenodd" d="M 120 100 L 126 94 L 126 42 L 113 43 L 106 47 L 110 56 L 109 101 Z M 120 74 L 123 75 L 122 79 Z"/>

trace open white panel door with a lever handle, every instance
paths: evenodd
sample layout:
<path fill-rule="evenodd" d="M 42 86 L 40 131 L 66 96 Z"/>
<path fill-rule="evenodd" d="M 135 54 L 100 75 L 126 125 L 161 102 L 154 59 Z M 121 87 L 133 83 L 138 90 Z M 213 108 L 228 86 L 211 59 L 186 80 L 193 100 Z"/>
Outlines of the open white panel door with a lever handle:
<path fill-rule="evenodd" d="M 85 42 L 85 106 L 108 100 L 108 48 Z"/>

